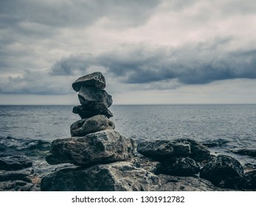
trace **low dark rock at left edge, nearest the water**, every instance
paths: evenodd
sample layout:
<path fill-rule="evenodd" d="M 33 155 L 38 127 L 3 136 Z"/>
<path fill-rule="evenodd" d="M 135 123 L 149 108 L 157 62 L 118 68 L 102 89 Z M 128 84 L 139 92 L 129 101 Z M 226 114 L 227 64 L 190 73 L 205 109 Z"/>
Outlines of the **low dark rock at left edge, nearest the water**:
<path fill-rule="evenodd" d="M 32 166 L 32 161 L 24 155 L 0 157 L 0 170 L 19 170 Z"/>

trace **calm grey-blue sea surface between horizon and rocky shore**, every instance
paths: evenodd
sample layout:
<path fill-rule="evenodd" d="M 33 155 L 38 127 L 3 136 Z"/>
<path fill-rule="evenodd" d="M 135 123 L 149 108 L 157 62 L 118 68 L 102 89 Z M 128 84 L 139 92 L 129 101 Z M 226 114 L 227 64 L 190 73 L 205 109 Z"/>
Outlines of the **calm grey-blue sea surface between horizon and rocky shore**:
<path fill-rule="evenodd" d="M 243 163 L 255 157 L 231 149 L 256 149 L 256 104 L 252 105 L 112 105 L 116 129 L 136 141 L 193 138 L 213 145 Z M 70 124 L 80 117 L 72 106 L 0 106 L 0 137 L 53 141 L 70 137 Z"/>

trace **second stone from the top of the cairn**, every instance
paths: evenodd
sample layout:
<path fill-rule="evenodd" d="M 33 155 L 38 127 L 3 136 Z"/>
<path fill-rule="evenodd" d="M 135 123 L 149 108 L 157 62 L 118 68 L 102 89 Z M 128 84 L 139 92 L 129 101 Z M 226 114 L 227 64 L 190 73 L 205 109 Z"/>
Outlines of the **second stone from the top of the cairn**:
<path fill-rule="evenodd" d="M 95 110 L 105 110 L 112 104 L 112 96 L 105 90 L 81 86 L 78 99 L 84 107 Z"/>

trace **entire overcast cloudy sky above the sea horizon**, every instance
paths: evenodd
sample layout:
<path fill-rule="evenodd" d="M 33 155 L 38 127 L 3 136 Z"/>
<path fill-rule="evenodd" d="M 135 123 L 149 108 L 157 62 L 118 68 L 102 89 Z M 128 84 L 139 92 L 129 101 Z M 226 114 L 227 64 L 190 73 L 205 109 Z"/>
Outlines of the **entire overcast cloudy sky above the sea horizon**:
<path fill-rule="evenodd" d="M 1 0 L 0 104 L 256 104 L 255 0 Z"/>

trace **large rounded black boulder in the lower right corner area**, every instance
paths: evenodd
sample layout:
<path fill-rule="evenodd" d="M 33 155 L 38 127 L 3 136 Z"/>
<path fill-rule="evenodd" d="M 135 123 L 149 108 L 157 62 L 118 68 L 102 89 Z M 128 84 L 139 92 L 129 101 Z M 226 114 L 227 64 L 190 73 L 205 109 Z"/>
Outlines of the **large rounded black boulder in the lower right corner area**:
<path fill-rule="evenodd" d="M 243 180 L 243 166 L 233 157 L 218 155 L 201 168 L 200 177 L 221 188 L 239 188 Z"/>

